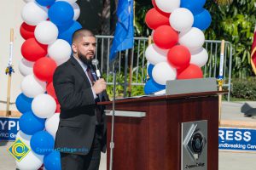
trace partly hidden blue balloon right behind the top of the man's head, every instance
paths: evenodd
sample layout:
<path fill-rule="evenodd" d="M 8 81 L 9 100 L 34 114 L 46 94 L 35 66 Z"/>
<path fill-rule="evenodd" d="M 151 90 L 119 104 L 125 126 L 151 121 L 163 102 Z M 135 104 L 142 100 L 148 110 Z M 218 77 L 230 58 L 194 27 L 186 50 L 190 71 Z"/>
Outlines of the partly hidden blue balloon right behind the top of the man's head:
<path fill-rule="evenodd" d="M 73 32 L 79 30 L 80 28 L 82 28 L 80 23 L 78 21 L 73 21 L 72 26 L 70 26 L 67 30 L 61 31 L 61 29 L 59 28 L 60 32 L 58 38 L 66 40 L 67 42 L 69 42 L 69 44 L 72 44 Z"/>

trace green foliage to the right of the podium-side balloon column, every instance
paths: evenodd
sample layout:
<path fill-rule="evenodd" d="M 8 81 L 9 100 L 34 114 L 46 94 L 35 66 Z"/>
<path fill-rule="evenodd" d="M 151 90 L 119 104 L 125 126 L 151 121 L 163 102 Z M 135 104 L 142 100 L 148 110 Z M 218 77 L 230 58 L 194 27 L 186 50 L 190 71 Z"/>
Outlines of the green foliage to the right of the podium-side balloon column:
<path fill-rule="evenodd" d="M 255 0 L 234 0 L 230 5 L 218 5 L 208 0 L 205 5 L 212 15 L 212 24 L 205 31 L 206 39 L 224 39 L 234 46 L 232 77 L 253 75 L 250 51 L 256 24 L 255 3 Z"/>

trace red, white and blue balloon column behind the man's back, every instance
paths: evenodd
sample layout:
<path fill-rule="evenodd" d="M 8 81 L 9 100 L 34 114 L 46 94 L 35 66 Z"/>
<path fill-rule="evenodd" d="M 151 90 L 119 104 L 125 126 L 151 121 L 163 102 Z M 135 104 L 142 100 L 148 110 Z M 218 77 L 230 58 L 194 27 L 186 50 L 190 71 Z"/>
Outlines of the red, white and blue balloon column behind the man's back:
<path fill-rule="evenodd" d="M 57 65 L 69 59 L 73 32 L 82 26 L 76 21 L 80 8 L 76 0 L 24 0 L 24 20 L 20 35 L 23 59 L 19 70 L 24 76 L 21 94 L 16 99 L 20 116 L 20 138 L 32 150 L 16 161 L 20 170 L 44 167 L 61 169 L 60 153 L 54 149 L 60 120 L 60 105 L 55 96 L 53 74 Z"/>

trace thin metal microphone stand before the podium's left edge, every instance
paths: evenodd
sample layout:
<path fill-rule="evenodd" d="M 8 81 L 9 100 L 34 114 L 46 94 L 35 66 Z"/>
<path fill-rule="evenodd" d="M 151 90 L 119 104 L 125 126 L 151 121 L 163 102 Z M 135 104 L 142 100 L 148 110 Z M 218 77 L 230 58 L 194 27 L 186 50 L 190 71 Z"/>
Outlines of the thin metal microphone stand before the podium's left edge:
<path fill-rule="evenodd" d="M 114 111 L 115 111 L 115 85 L 116 85 L 116 70 L 117 70 L 117 65 L 114 63 L 113 65 L 113 108 L 112 108 L 112 123 L 111 123 L 111 140 L 110 140 L 110 160 L 109 160 L 109 170 L 113 169 L 113 148 L 114 148 L 114 143 L 113 143 L 113 127 L 114 127 Z"/>

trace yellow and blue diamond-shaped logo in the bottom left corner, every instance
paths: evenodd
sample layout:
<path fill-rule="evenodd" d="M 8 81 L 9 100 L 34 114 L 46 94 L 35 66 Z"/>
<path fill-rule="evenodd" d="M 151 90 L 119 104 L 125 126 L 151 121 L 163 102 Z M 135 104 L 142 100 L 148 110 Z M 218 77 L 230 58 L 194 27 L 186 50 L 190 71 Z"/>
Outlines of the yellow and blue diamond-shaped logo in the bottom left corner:
<path fill-rule="evenodd" d="M 9 146 L 7 151 L 15 158 L 15 160 L 21 161 L 30 152 L 30 150 L 31 149 L 26 146 L 22 140 L 16 139 L 15 142 Z"/>

